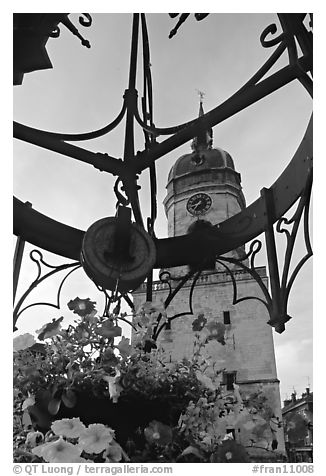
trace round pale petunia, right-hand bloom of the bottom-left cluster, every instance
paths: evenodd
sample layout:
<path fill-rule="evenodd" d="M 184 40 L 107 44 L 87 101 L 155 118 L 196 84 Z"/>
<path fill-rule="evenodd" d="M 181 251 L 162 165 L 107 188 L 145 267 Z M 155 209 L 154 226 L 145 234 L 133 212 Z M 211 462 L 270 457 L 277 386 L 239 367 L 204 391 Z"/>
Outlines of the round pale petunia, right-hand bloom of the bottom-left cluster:
<path fill-rule="evenodd" d="M 80 435 L 78 446 L 86 453 L 101 453 L 106 450 L 114 437 L 114 430 L 101 423 L 93 423 Z"/>

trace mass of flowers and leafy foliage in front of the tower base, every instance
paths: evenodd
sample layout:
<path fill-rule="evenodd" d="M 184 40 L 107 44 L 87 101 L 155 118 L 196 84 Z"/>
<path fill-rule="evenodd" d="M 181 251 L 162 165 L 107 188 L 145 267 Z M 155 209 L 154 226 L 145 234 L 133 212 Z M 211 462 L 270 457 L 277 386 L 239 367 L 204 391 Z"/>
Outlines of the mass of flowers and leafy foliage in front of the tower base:
<path fill-rule="evenodd" d="M 74 325 L 54 319 L 41 342 L 25 335 L 14 347 L 15 461 L 246 461 L 229 433 L 241 425 L 246 446 L 276 448 L 266 397 L 226 392 L 203 353 L 212 340 L 225 345 L 223 324 L 199 314 L 192 358 L 174 362 L 152 340 L 162 306 L 145 303 L 133 316 L 132 343 L 119 307 L 106 316 L 89 299 L 68 307 Z"/>

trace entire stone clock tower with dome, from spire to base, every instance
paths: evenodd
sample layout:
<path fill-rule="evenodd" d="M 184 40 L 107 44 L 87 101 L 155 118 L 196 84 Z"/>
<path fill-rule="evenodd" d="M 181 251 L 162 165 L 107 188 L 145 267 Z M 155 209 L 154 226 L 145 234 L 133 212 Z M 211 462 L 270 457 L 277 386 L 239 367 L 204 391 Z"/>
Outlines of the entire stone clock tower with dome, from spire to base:
<path fill-rule="evenodd" d="M 199 115 L 203 115 L 200 102 Z M 200 133 L 191 144 L 192 151 L 182 155 L 170 170 L 164 207 L 168 219 L 170 237 L 191 233 L 197 227 L 215 226 L 239 213 L 245 207 L 241 177 L 236 171 L 230 154 L 213 147 L 212 130 Z M 194 250 L 195 252 L 195 250 Z M 243 258 L 244 246 L 227 254 L 232 258 Z M 225 390 L 233 391 L 233 383 L 244 394 L 263 393 L 276 421 L 281 421 L 279 380 L 277 379 L 272 328 L 265 306 L 259 301 L 262 291 L 257 282 L 243 268 L 230 265 L 230 274 L 215 260 L 205 263 L 203 271 L 192 288 L 186 283 L 167 307 L 169 327 L 161 333 L 158 345 L 162 346 L 172 360 L 191 358 L 194 353 L 194 319 L 204 314 L 207 325 L 215 325 L 224 332 L 221 344 L 212 342 L 205 346 L 219 370 L 221 384 Z M 189 268 L 171 268 L 169 275 L 177 279 Z M 256 271 L 267 285 L 265 267 Z M 246 299 L 233 304 L 236 283 L 237 297 Z M 134 291 L 136 309 L 146 300 L 146 288 L 142 285 Z M 168 286 L 161 281 L 153 283 L 153 301 L 164 302 Z M 175 316 L 179 316 L 174 318 Z M 217 345 L 216 345 L 217 344 Z M 235 438 L 244 442 L 245 430 L 231 428 Z M 282 428 L 276 428 L 278 451 L 284 453 Z"/>

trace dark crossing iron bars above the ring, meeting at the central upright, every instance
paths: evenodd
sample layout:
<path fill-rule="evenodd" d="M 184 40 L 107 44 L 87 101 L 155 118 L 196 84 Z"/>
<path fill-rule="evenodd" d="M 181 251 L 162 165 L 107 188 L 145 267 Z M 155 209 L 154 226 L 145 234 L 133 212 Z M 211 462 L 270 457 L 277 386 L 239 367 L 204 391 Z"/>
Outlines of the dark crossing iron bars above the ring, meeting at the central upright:
<path fill-rule="evenodd" d="M 207 14 L 198 14 L 198 15 L 207 15 Z M 231 117 L 237 112 L 245 109 L 249 105 L 253 104 L 256 101 L 259 101 L 263 97 L 271 94 L 273 91 L 283 87 L 289 82 L 298 79 L 311 93 L 311 78 L 309 74 L 312 72 L 312 32 L 308 30 L 306 26 L 305 17 L 306 14 L 278 14 L 282 32 L 277 33 L 277 27 L 273 24 L 268 26 L 261 35 L 261 43 L 263 47 L 275 46 L 276 50 L 272 53 L 270 58 L 265 62 L 261 69 L 255 73 L 252 78 L 242 86 L 236 93 L 233 94 L 229 99 L 224 101 L 222 104 L 218 105 L 204 116 L 196 118 L 187 123 L 180 124 L 177 126 L 172 126 L 168 128 L 159 128 L 154 125 L 153 121 L 153 94 L 152 94 L 152 79 L 150 73 L 150 55 L 149 55 L 149 40 L 147 34 L 146 20 L 145 15 L 141 14 L 141 34 L 143 40 L 143 76 L 144 76 L 144 91 L 143 97 L 141 100 L 142 104 L 142 115 L 138 111 L 137 97 L 138 93 L 135 89 L 135 76 L 136 76 L 136 63 L 137 63 L 137 45 L 139 41 L 139 14 L 134 15 L 133 20 L 133 32 L 132 32 L 132 48 L 130 56 L 130 74 L 129 74 L 129 85 L 128 89 L 125 92 L 123 98 L 123 106 L 121 112 L 118 114 L 117 118 L 111 122 L 108 126 L 103 127 L 98 131 L 94 131 L 86 134 L 56 134 L 51 132 L 39 131 L 36 129 L 29 128 L 22 124 L 14 124 L 14 135 L 20 140 L 26 142 L 31 142 L 40 147 L 44 147 L 49 150 L 56 151 L 60 154 L 63 154 L 67 157 L 72 157 L 77 160 L 81 160 L 85 163 L 91 164 L 98 168 L 101 171 L 106 171 L 115 175 L 118 175 L 123 182 L 128 199 L 131 202 L 131 206 L 134 212 L 135 220 L 142 224 L 142 216 L 140 211 L 140 204 L 138 200 L 137 193 L 137 174 L 141 173 L 147 167 L 150 168 L 150 181 L 151 181 L 151 190 L 152 190 L 152 211 L 151 217 L 148 221 L 148 230 L 152 233 L 153 229 L 153 219 L 156 215 L 156 206 L 155 206 L 155 190 L 156 190 L 156 177 L 155 169 L 153 167 L 155 160 L 162 157 L 166 153 L 174 150 L 176 147 L 184 144 L 188 140 L 191 140 L 195 135 L 200 132 L 201 129 L 206 127 L 212 127 L 225 119 Z M 275 38 L 269 39 L 269 36 L 275 35 Z M 301 56 L 299 56 L 298 48 L 296 43 L 301 49 Z M 281 54 L 287 50 L 289 54 L 289 65 L 283 67 L 279 71 L 271 74 L 265 78 L 266 73 L 270 71 L 272 66 L 275 65 L 278 58 Z M 127 115 L 129 118 L 126 122 L 126 136 L 125 136 L 125 151 L 124 151 L 124 160 L 111 157 L 108 154 L 94 153 L 75 145 L 68 144 L 66 140 L 85 140 L 91 139 L 93 137 L 99 137 L 111 131 L 117 126 L 117 124 L 122 120 L 122 118 Z M 133 150 L 133 129 L 134 121 L 138 122 L 143 128 L 145 135 L 145 149 L 142 152 L 137 152 L 134 154 Z M 167 140 L 157 143 L 156 138 L 159 135 L 172 135 Z M 290 198 L 289 198 L 290 200 Z M 292 198 L 291 198 L 292 200 Z M 293 203 L 293 202 L 292 202 Z M 291 203 L 291 205 L 292 205 Z M 21 212 L 21 211 L 20 211 Z M 20 213 L 19 212 L 19 213 Z M 27 214 L 30 216 L 36 217 L 36 211 L 33 210 L 31 213 L 28 213 L 27 210 L 23 211 L 24 215 Z M 15 222 L 17 224 L 18 212 L 17 212 L 17 201 L 15 200 Z M 279 217 L 277 217 L 279 218 Z M 62 246 L 58 250 L 58 246 L 55 246 L 54 243 L 43 243 L 42 240 L 42 220 L 39 222 L 37 230 L 37 238 L 35 237 L 35 231 L 32 231 L 28 227 L 31 220 L 25 220 L 23 229 L 19 230 L 19 234 L 28 234 L 30 242 L 34 243 L 35 241 L 42 241 L 42 247 L 52 251 L 52 248 L 55 247 L 53 252 L 61 254 L 62 256 L 67 256 L 68 254 L 71 257 L 71 253 L 67 252 L 66 246 Z M 53 226 L 59 226 L 59 224 L 52 223 Z M 19 227 L 21 228 L 21 227 Z M 66 232 L 70 233 L 70 230 L 67 227 Z M 15 230 L 17 225 L 15 226 Z M 82 232 L 81 232 L 82 233 Z M 49 236 L 47 234 L 47 236 Z M 256 235 L 257 236 L 257 235 Z M 244 238 L 243 242 L 249 241 L 253 237 Z M 78 241 L 78 243 L 77 243 Z M 158 240 L 157 244 L 160 247 L 162 240 Z M 171 246 L 174 246 L 178 240 L 170 239 Z M 173 241 L 173 243 L 172 243 Z M 75 237 L 75 241 L 72 242 L 69 240 L 70 247 L 73 245 L 77 248 L 79 246 L 79 238 Z M 36 244 L 36 243 L 35 243 Z M 162 243 L 163 244 L 163 243 Z M 47 245 L 47 246 L 46 246 Z M 38 245 L 39 246 L 39 245 Z M 158 259 L 160 257 L 160 250 L 158 250 Z M 170 253 L 171 255 L 171 253 Z M 179 254 L 174 256 L 175 259 L 179 257 Z M 75 258 L 73 258 L 75 259 Z M 78 259 L 78 258 L 77 258 Z M 179 263 L 182 264 L 182 263 Z M 178 266 L 179 264 L 162 264 L 157 263 L 156 267 L 164 268 L 169 266 Z M 185 263 L 183 263 L 185 264 Z"/>

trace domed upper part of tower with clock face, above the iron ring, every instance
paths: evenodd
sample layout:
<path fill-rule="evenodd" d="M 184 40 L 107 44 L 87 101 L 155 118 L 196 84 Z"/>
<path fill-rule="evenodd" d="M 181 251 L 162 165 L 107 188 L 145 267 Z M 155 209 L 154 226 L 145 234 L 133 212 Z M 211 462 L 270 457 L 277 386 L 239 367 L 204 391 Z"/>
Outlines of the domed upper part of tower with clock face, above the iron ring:
<path fill-rule="evenodd" d="M 204 114 L 200 102 L 199 116 Z M 168 235 L 190 233 L 197 226 L 216 225 L 245 208 L 241 176 L 228 152 L 212 147 L 213 131 L 207 129 L 192 141 L 192 152 L 171 168 L 164 199 Z M 230 253 L 242 256 L 240 248 Z"/>

